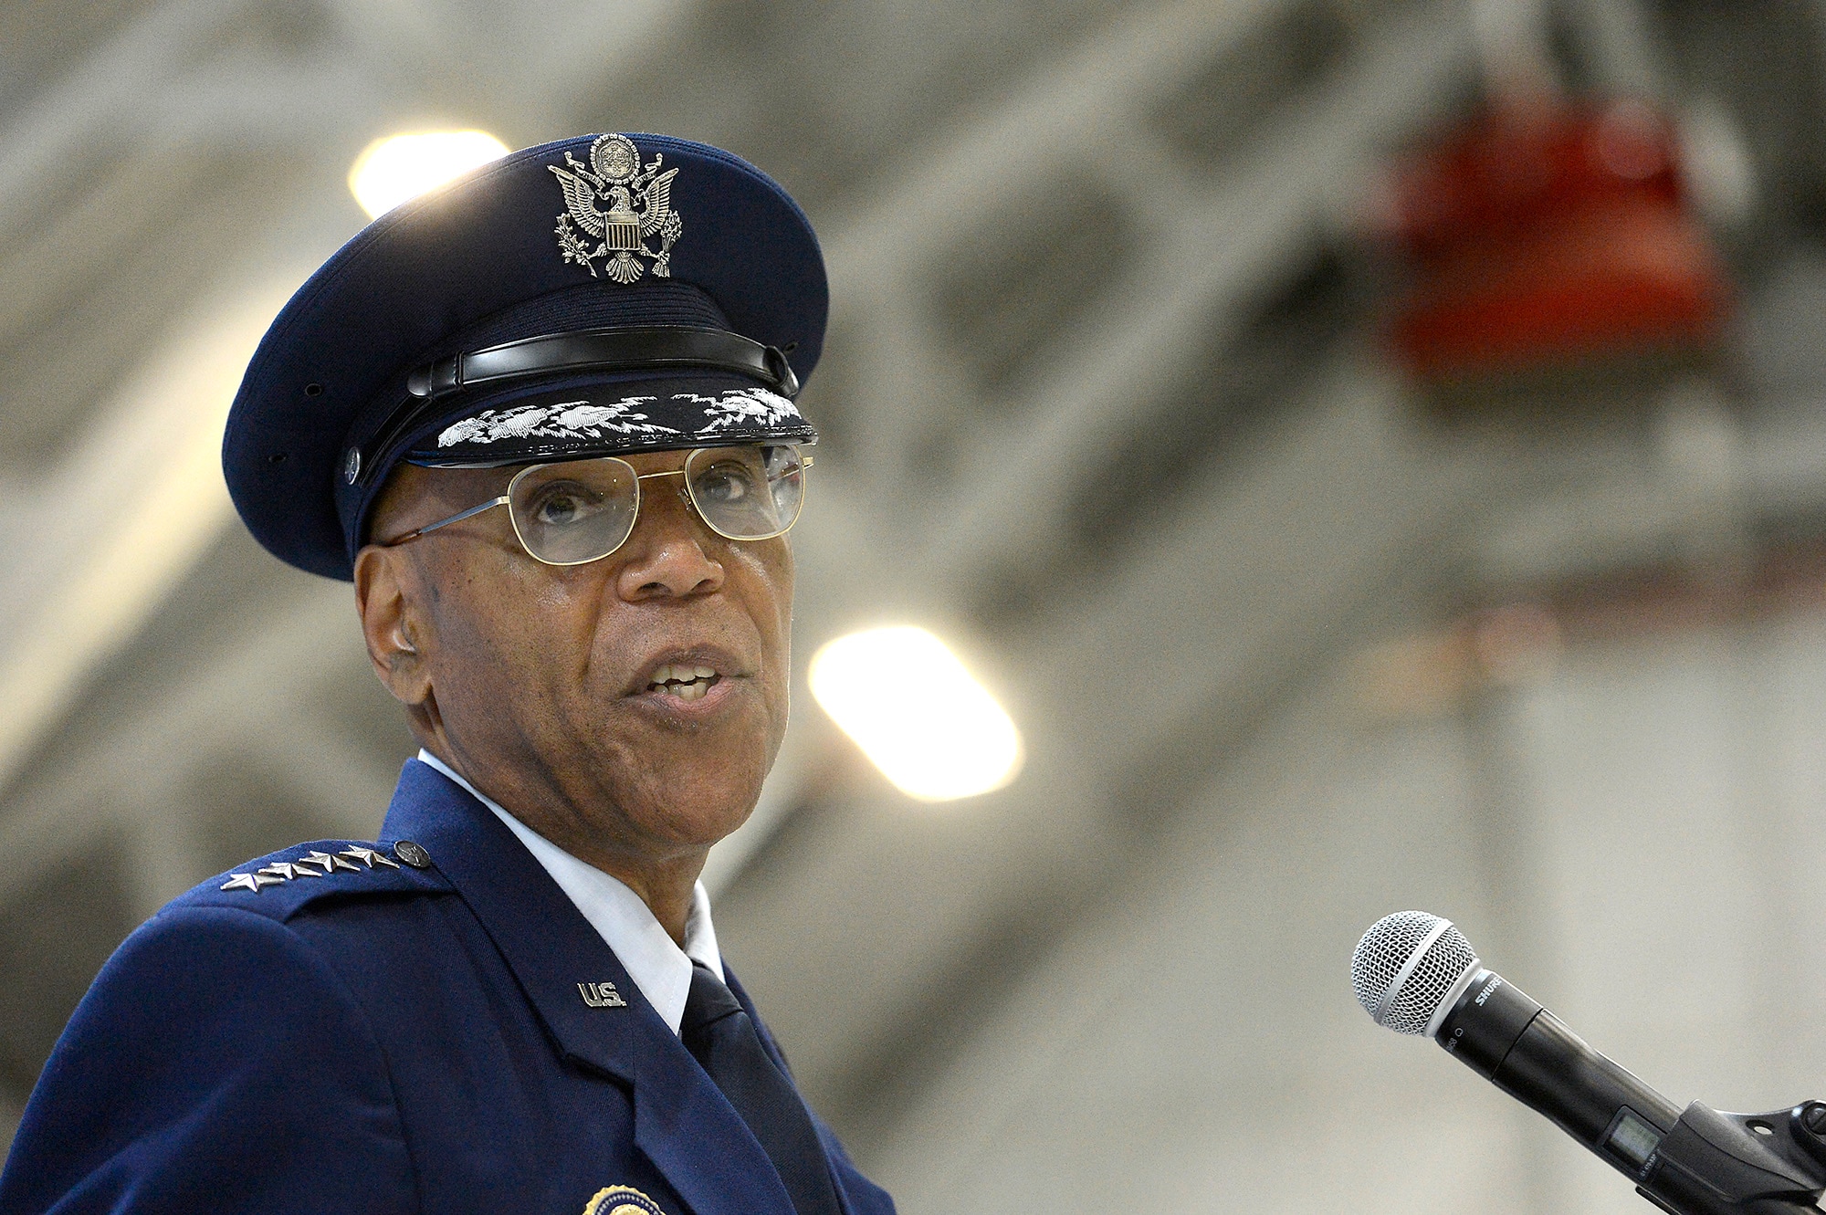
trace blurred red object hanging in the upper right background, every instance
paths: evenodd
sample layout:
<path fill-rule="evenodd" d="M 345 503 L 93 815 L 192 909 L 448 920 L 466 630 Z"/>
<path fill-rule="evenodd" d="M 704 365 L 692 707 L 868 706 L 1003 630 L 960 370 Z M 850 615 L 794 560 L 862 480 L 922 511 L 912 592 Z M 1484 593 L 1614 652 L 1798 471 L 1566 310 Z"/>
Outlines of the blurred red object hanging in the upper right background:
<path fill-rule="evenodd" d="M 1709 348 L 1724 266 L 1645 106 L 1492 111 L 1397 168 L 1384 235 L 1415 272 L 1388 341 L 1426 381 Z"/>

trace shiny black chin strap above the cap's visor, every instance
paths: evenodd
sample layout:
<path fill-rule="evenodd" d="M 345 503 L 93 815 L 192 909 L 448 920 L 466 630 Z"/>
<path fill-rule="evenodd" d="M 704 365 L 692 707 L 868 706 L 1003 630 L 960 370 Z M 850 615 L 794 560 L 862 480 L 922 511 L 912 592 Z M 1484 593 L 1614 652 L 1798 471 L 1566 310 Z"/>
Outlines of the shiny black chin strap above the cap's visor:
<path fill-rule="evenodd" d="M 698 325 L 643 328 L 579 328 L 568 334 L 522 338 L 484 350 L 425 363 L 405 379 L 400 401 L 363 443 L 343 452 L 343 480 L 367 485 L 383 456 L 402 436 L 440 410 L 440 401 L 464 389 L 561 370 L 663 370 L 699 367 L 761 381 L 785 398 L 798 396 L 798 376 L 776 347 Z"/>

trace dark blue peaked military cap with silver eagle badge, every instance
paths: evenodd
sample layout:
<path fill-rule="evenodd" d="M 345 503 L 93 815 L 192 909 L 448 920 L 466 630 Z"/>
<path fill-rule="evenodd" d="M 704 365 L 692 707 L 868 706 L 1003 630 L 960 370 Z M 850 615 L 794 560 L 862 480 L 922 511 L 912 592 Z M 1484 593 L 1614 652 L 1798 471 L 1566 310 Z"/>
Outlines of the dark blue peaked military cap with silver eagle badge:
<path fill-rule="evenodd" d="M 740 157 L 665 135 L 515 151 L 292 296 L 228 412 L 228 493 L 270 553 L 349 578 L 402 460 L 813 441 L 792 398 L 827 310 L 805 213 Z"/>

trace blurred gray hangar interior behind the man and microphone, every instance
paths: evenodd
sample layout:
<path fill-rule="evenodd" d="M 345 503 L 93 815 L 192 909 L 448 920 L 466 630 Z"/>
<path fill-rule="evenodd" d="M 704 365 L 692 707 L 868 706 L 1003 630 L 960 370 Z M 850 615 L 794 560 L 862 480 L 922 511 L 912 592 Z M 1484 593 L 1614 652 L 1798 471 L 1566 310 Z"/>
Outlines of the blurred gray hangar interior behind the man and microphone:
<path fill-rule="evenodd" d="M 351 161 L 661 130 L 824 237 L 800 673 L 924 624 L 1026 735 L 920 805 L 802 680 L 712 861 L 900 1210 L 1649 1210 L 1348 961 L 1435 910 L 1678 1102 L 1826 1096 L 1822 55 L 1815 0 L 0 7 L 0 1135 L 135 923 L 411 753 L 215 467 Z M 1360 217 L 1516 77 L 1676 122 L 1727 358 L 1448 425 Z"/>

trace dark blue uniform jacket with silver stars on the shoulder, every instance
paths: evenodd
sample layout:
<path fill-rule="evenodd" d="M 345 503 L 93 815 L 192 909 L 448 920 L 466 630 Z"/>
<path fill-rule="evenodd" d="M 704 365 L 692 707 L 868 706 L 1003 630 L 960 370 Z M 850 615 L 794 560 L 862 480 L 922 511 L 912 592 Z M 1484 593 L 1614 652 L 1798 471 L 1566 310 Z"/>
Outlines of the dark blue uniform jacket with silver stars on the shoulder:
<path fill-rule="evenodd" d="M 33 1091 L 0 1213 L 581 1215 L 628 1188 L 646 1202 L 603 1215 L 792 1215 L 754 1135 L 486 806 L 411 761 L 382 839 L 431 865 L 301 845 L 245 872 L 347 867 L 257 892 L 215 878 L 133 932 Z M 623 1007 L 592 1007 L 606 983 Z M 893 1215 L 818 1133 L 847 1215 Z"/>

